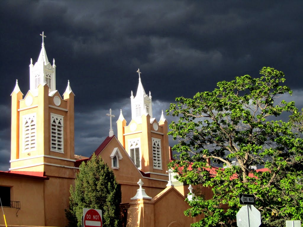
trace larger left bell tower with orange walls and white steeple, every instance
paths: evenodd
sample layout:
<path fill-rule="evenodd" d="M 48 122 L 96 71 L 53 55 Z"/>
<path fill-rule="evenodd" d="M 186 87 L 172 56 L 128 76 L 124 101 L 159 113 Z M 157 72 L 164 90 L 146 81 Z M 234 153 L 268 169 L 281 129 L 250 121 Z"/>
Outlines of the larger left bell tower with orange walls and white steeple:
<path fill-rule="evenodd" d="M 74 165 L 74 93 L 68 81 L 62 96 L 56 90 L 56 65 L 44 45 L 29 65 L 30 87 L 23 97 L 18 81 L 12 96 L 11 168 L 52 175 L 59 166 Z"/>

